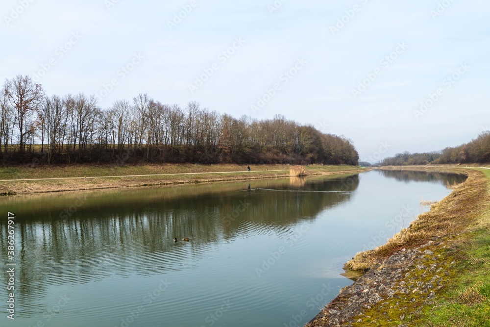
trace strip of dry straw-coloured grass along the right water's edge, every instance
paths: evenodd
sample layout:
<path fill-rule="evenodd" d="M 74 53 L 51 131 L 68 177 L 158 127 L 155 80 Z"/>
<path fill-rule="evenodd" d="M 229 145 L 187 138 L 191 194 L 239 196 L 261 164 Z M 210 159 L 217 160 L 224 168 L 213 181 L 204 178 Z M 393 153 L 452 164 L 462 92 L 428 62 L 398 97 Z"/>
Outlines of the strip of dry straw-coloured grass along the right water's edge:
<path fill-rule="evenodd" d="M 415 248 L 433 239 L 461 233 L 472 226 L 488 199 L 487 179 L 483 173 L 468 171 L 468 179 L 455 187 L 453 193 L 431 206 L 431 210 L 418 216 L 410 227 L 402 229 L 385 245 L 374 250 L 357 253 L 344 269 L 366 270 L 380 259 L 403 248 Z"/>

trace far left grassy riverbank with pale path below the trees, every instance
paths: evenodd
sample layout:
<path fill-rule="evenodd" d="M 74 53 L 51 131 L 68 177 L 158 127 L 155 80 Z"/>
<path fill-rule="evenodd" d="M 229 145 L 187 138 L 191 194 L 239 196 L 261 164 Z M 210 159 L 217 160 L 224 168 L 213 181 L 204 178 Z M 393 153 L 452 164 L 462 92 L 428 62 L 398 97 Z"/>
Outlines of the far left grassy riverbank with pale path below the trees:
<path fill-rule="evenodd" d="M 0 195 L 143 187 L 289 176 L 290 165 L 168 164 L 19 166 L 0 169 Z M 306 166 L 307 175 L 367 171 L 358 166 Z"/>

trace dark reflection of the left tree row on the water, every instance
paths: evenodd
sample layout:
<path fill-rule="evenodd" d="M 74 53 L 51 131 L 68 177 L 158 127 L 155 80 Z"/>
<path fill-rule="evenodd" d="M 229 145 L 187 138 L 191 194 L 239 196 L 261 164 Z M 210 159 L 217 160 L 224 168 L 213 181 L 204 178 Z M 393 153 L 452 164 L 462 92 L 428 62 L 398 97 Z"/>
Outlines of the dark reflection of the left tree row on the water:
<path fill-rule="evenodd" d="M 3 198 L 1 210 L 16 215 L 19 294 L 29 302 L 50 285 L 189 269 L 189 253 L 171 242 L 174 237 L 190 237 L 195 256 L 219 240 L 286 233 L 349 201 L 359 176 L 250 184 L 250 189 L 248 183 L 232 183 Z M 1 225 L 2 248 L 6 234 Z"/>

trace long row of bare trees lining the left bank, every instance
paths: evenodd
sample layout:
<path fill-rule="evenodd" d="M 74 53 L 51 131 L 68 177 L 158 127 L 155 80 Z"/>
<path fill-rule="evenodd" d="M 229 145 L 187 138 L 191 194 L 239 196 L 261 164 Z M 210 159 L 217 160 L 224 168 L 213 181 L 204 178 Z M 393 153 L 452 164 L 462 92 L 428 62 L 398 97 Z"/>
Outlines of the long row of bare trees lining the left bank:
<path fill-rule="evenodd" d="M 29 76 L 0 92 L 0 160 L 6 163 L 291 163 L 357 165 L 344 137 L 276 115 L 258 121 L 185 108 L 140 94 L 100 108 L 95 96 L 47 96 Z"/>

